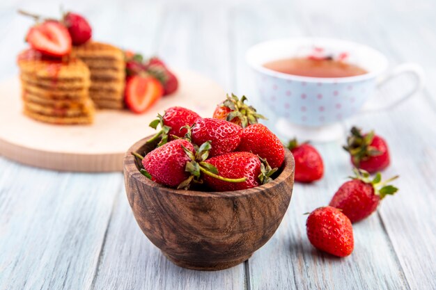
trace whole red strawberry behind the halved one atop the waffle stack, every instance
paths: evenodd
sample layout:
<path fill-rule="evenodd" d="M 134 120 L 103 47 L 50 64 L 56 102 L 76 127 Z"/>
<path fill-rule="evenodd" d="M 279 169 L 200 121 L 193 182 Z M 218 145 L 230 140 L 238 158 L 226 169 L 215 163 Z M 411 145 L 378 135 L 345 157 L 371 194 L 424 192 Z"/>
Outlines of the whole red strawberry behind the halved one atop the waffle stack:
<path fill-rule="evenodd" d="M 63 17 L 63 23 L 70 32 L 73 45 L 83 45 L 91 39 L 93 30 L 83 16 L 69 12 Z"/>

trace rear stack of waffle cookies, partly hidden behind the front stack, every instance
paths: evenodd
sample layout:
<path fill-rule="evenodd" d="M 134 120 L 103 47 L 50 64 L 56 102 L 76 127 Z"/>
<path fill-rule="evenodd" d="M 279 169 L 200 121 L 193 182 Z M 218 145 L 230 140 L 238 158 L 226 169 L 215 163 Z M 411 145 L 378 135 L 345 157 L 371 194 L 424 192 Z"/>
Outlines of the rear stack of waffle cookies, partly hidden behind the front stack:
<path fill-rule="evenodd" d="M 102 42 L 86 42 L 73 47 L 77 57 L 91 72 L 89 96 L 98 108 L 124 108 L 125 58 L 121 49 Z"/>

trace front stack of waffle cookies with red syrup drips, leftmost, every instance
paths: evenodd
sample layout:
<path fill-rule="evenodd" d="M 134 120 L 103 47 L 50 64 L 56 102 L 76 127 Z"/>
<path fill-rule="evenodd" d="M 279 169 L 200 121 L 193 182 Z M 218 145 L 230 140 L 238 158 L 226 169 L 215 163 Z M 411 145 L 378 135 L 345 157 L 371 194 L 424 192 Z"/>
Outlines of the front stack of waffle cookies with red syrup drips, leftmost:
<path fill-rule="evenodd" d="M 79 59 L 50 60 L 35 51 L 18 57 L 24 114 L 52 124 L 91 124 L 90 72 Z"/>

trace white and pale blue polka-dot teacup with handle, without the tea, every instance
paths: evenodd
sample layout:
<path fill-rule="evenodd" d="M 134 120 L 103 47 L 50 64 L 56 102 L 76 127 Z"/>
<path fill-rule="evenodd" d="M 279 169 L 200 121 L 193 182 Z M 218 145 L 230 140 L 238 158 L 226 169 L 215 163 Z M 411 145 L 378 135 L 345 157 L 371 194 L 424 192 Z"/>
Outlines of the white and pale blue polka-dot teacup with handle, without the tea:
<path fill-rule="evenodd" d="M 264 67 L 284 58 L 306 57 L 314 49 L 326 56 L 347 55 L 346 62 L 366 74 L 322 78 L 284 74 Z M 255 72 L 258 104 L 268 106 L 277 117 L 279 134 L 326 141 L 343 134 L 341 120 L 363 110 L 384 110 L 405 101 L 423 87 L 423 70 L 405 63 L 386 73 L 387 58 L 375 49 L 356 42 L 329 38 L 290 38 L 262 42 L 247 51 L 247 63 Z M 375 90 L 398 74 L 415 76 L 414 88 L 388 104 L 367 102 Z M 365 106 L 364 106 L 365 105 Z"/>

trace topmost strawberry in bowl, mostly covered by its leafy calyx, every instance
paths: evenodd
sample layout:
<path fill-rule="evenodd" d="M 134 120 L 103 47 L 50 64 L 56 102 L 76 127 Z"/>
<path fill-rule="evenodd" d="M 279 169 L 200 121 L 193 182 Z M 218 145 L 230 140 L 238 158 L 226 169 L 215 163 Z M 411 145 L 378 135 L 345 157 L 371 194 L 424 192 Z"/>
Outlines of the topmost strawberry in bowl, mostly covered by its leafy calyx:
<path fill-rule="evenodd" d="M 213 113 L 213 118 L 227 120 L 245 128 L 249 124 L 256 124 L 258 119 L 265 119 L 263 115 L 256 113 L 256 108 L 244 104 L 247 97 L 241 99 L 235 95 L 227 95 L 227 99 L 219 104 Z"/>

